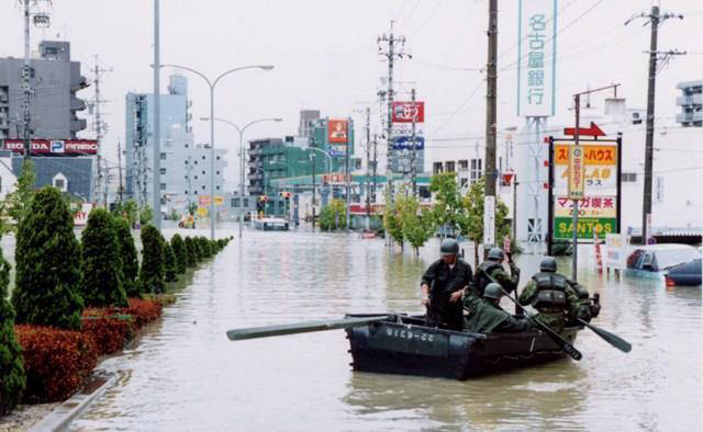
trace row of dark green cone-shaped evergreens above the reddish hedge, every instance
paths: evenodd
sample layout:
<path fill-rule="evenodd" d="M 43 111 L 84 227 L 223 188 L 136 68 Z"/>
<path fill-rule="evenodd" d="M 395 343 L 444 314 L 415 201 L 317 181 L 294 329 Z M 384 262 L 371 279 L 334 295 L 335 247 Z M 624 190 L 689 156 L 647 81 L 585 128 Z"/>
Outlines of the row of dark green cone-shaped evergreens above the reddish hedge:
<path fill-rule="evenodd" d="M 78 330 L 83 308 L 125 307 L 127 297 L 164 293 L 167 282 L 230 241 L 175 235 L 169 242 L 145 225 L 140 265 L 129 219 L 96 208 L 79 241 L 57 189 L 43 187 L 29 206 L 15 208 L 16 278 L 10 300 L 9 264 L 0 257 L 0 416 L 18 403 L 24 388 L 13 323 Z"/>

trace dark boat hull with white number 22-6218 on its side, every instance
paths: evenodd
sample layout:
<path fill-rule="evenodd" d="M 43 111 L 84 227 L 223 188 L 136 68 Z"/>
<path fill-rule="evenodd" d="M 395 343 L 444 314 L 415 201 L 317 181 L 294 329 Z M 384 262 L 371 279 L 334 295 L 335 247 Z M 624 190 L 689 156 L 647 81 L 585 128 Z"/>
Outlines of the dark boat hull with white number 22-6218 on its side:
<path fill-rule="evenodd" d="M 425 327 L 420 317 L 398 317 L 400 322 L 346 329 L 354 371 L 467 379 L 566 355 L 539 330 L 468 333 Z M 562 337 L 573 343 L 580 329 L 567 328 Z"/>

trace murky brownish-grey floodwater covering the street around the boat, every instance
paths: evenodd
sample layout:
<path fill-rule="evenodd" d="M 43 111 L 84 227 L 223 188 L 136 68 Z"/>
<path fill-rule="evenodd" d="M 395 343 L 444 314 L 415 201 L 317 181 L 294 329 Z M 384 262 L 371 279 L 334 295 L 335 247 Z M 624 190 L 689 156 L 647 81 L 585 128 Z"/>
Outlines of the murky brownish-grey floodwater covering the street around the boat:
<path fill-rule="evenodd" d="M 222 235 L 236 236 L 226 228 Z M 70 430 L 702 429 L 701 288 L 609 281 L 592 271 L 588 250 L 579 254 L 581 280 L 603 305 L 594 323 L 628 340 L 629 354 L 584 330 L 580 362 L 455 382 L 354 373 L 343 330 L 225 336 L 345 312 L 417 312 L 419 278 L 437 249 L 432 240 L 415 258 L 355 235 L 245 231 L 201 265 L 134 349 L 102 363 L 120 379 Z M 522 286 L 538 257 L 518 263 Z M 568 273 L 570 262 L 559 264 Z"/>

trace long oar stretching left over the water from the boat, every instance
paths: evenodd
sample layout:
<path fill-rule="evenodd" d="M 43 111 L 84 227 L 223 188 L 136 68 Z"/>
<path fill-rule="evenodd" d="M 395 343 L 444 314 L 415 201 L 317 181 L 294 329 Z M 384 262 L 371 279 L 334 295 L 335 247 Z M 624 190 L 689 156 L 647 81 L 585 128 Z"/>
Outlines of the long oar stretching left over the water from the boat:
<path fill-rule="evenodd" d="M 380 322 L 392 319 L 392 315 L 380 315 L 365 318 L 344 318 L 321 321 L 308 321 L 290 325 L 249 327 L 245 329 L 233 329 L 227 331 L 227 338 L 232 341 L 244 339 L 268 338 L 271 336 L 308 333 L 311 331 L 325 331 L 335 329 L 349 329 L 352 327 L 366 326 L 372 322 Z"/>

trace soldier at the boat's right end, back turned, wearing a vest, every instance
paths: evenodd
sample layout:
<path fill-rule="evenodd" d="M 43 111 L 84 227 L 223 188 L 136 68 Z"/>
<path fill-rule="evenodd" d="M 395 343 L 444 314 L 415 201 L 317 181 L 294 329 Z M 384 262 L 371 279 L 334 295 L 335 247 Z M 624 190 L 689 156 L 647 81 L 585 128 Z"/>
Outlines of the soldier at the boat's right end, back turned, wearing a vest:
<path fill-rule="evenodd" d="M 517 302 L 521 305 L 532 305 L 539 312 L 536 318 L 559 332 L 567 320 L 576 317 L 590 319 L 587 310 L 581 307 L 573 284 L 557 273 L 557 260 L 554 257 L 545 257 L 539 263 L 539 273 L 532 276 Z"/>

